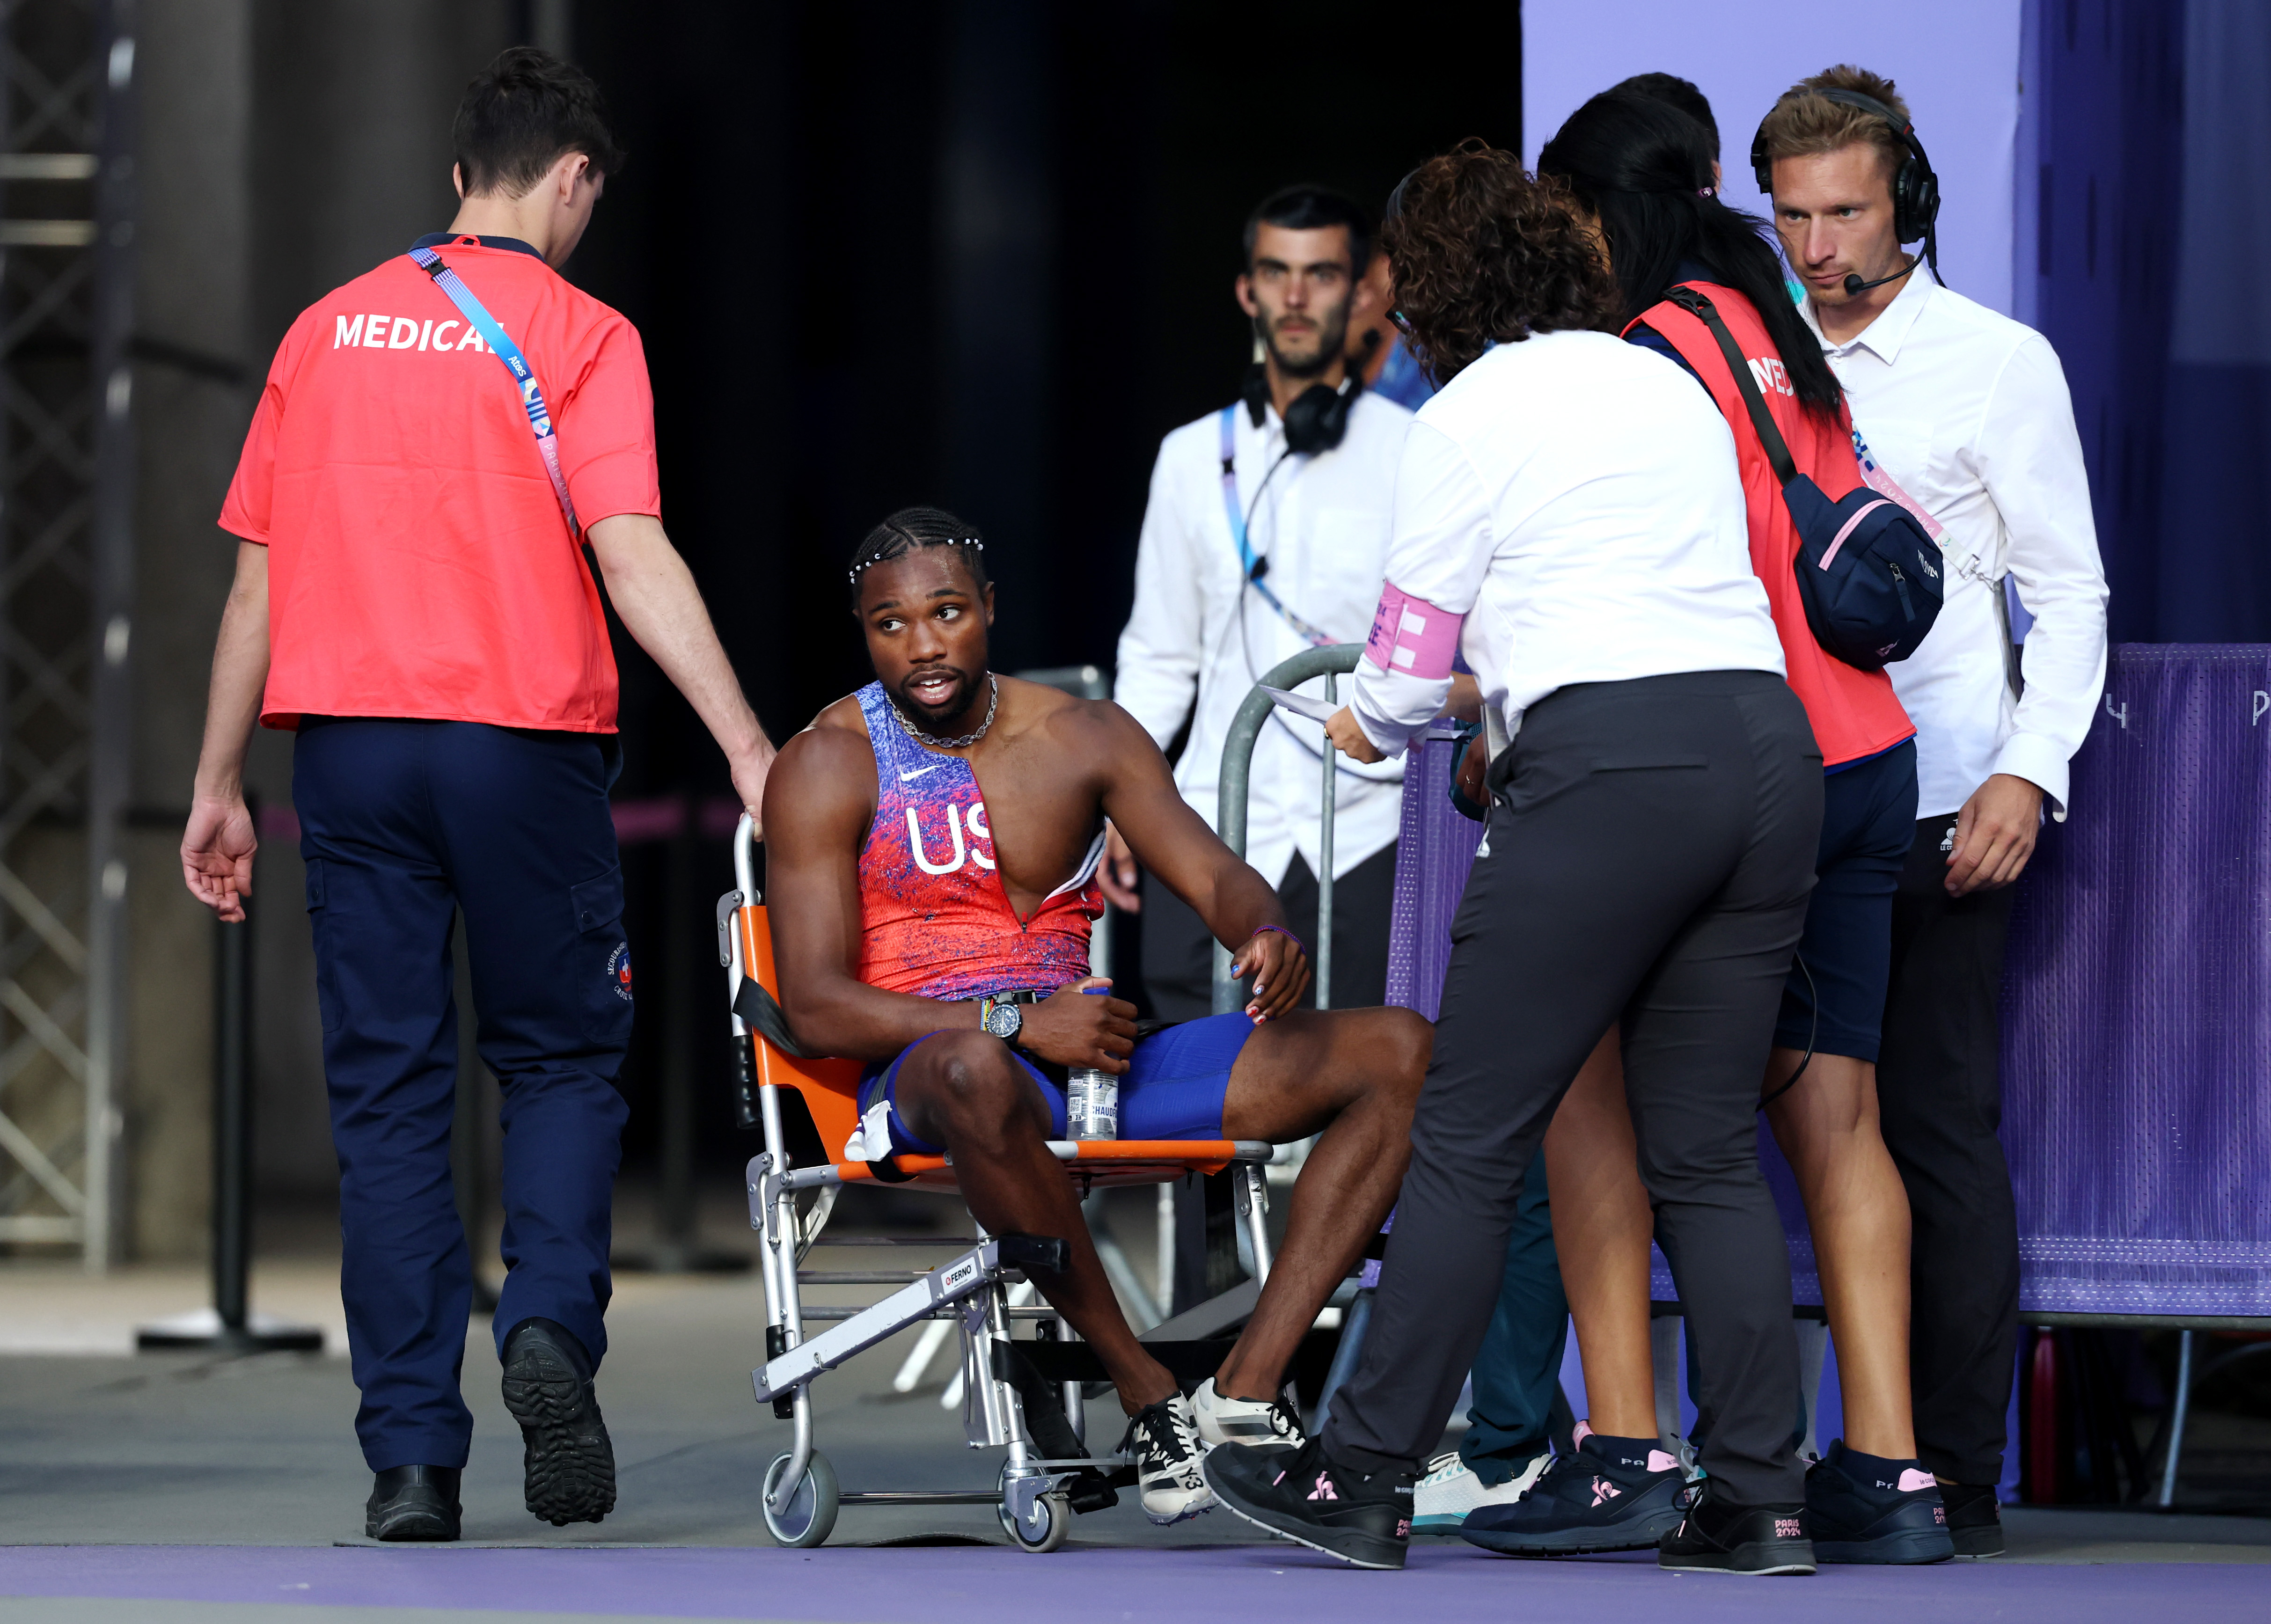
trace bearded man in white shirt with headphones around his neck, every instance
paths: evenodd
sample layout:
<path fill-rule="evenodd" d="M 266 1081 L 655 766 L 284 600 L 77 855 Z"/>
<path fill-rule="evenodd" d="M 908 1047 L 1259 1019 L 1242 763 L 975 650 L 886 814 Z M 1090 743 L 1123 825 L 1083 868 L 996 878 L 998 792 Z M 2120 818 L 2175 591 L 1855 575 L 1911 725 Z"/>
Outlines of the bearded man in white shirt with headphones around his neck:
<path fill-rule="evenodd" d="M 1113 697 L 1163 747 L 1190 718 L 1174 781 L 1213 827 L 1222 743 L 1256 679 L 1326 643 L 1363 643 L 1388 559 L 1397 457 L 1413 413 L 1365 391 L 1344 361 L 1349 304 L 1372 259 L 1372 220 L 1324 186 L 1288 186 L 1245 227 L 1238 307 L 1258 359 L 1240 400 L 1160 441 L 1136 552 L 1136 606 Z M 1322 681 L 1308 684 L 1322 695 Z M 1288 924 L 1317 922 L 1324 734 L 1272 711 L 1254 745 L 1247 863 Z M 1401 770 L 1335 772 L 1335 1008 L 1378 1004 Z M 1142 911 L 1142 974 L 1160 1020 L 1213 1011 L 1213 936 L 1174 893 L 1138 881 L 1113 836 L 1104 890 Z M 1138 888 L 1140 884 L 1140 888 Z"/>

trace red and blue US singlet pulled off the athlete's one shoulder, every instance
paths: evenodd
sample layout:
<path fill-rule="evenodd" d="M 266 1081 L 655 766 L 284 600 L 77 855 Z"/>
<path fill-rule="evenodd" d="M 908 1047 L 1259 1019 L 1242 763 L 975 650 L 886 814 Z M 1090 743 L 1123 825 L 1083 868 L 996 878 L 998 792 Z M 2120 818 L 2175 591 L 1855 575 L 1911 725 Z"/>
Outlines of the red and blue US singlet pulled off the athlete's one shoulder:
<path fill-rule="evenodd" d="M 1051 993 L 1086 977 L 1088 929 L 1104 913 L 1104 831 L 1079 872 L 1020 922 L 970 763 L 915 743 L 879 681 L 858 690 L 858 709 L 874 750 L 874 824 L 858 854 L 858 979 L 965 999 Z"/>

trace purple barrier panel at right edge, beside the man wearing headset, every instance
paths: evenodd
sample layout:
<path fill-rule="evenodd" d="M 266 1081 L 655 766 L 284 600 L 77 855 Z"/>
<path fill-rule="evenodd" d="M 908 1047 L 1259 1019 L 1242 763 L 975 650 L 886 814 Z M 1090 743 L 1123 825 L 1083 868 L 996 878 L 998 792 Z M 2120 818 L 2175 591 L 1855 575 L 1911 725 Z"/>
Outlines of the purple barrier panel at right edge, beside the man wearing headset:
<path fill-rule="evenodd" d="M 2271 647 L 2114 650 L 2003 968 L 2023 1308 L 2271 1315 Z"/>

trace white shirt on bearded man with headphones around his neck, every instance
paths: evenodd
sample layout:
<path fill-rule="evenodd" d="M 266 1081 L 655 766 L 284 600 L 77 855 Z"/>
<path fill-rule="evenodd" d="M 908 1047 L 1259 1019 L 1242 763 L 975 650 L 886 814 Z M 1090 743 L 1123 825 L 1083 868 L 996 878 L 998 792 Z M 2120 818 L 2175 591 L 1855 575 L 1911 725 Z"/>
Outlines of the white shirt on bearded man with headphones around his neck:
<path fill-rule="evenodd" d="M 1363 643 L 1381 597 L 1397 457 L 1413 413 L 1367 391 L 1349 409 L 1338 447 L 1285 459 L 1267 486 L 1263 477 L 1285 450 L 1285 425 L 1276 411 L 1258 429 L 1245 407 L 1231 416 L 1238 507 L 1254 509 L 1247 541 L 1269 559 L 1263 579 L 1326 636 Z M 1220 413 L 1210 411 L 1160 441 L 1136 547 L 1136 606 L 1120 634 L 1113 684 L 1113 697 L 1163 747 L 1190 713 L 1190 743 L 1174 781 L 1208 827 L 1217 813 L 1222 743 L 1238 706 L 1260 675 L 1308 647 L 1245 586 L 1222 497 L 1220 436 Z M 1322 695 L 1324 681 L 1304 684 L 1304 693 Z M 1397 838 L 1403 775 L 1356 768 L 1342 756 L 1335 781 L 1338 879 Z M 1254 740 L 1247 790 L 1247 861 L 1272 886 L 1283 881 L 1294 852 L 1317 872 L 1322 800 L 1324 729 L 1274 711 Z"/>

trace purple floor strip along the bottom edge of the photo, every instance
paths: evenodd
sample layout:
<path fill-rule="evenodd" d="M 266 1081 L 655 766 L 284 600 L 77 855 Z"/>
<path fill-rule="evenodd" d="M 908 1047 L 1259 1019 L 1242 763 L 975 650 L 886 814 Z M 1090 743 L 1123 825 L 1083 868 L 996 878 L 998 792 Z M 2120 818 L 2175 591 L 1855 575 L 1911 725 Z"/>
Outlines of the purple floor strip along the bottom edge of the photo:
<path fill-rule="evenodd" d="M 1428 1547 L 1401 1574 L 1363 1574 L 1294 1547 L 1065 1549 L 0 1549 L 0 1594 L 170 1601 L 429 1606 L 497 1613 L 1002 1624 L 1061 1619 L 1308 1624 L 1403 1617 L 1585 1619 L 1676 1608 L 1685 1619 L 1819 1619 L 1824 1608 L 1899 1608 L 1917 1619 L 2264 1617 L 2260 1565 L 2123 1563 L 1928 1569 L 1835 1567 L 1801 1581 L 1662 1574 L 1651 1560 L 1512 1563 Z M 1842 1613 L 1853 1617 L 1853 1613 Z M 1669 1615 L 1667 1615 L 1669 1617 Z"/>

